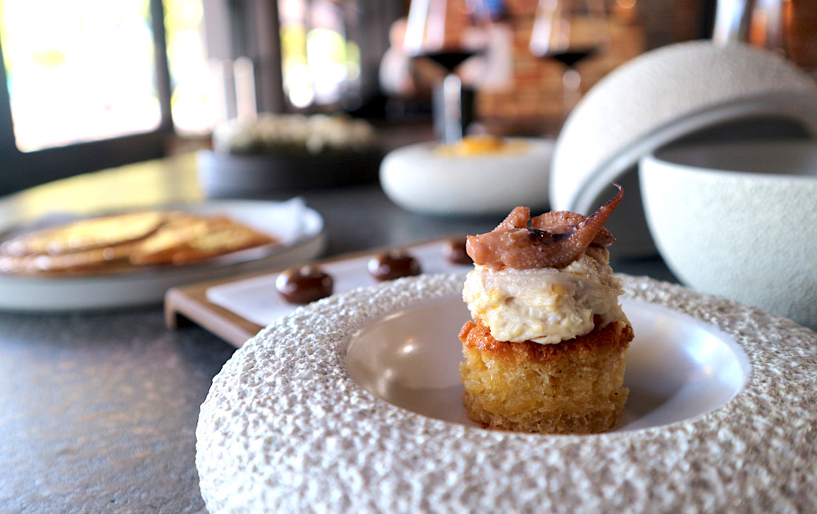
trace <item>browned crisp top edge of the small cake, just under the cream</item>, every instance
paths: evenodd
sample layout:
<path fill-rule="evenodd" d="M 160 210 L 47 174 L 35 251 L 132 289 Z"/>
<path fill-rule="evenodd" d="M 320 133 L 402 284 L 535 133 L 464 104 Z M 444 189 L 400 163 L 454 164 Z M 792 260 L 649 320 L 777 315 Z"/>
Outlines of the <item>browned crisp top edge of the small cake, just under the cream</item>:
<path fill-rule="evenodd" d="M 462 343 L 472 349 L 480 350 L 493 355 L 493 358 L 502 358 L 512 361 L 534 360 L 545 364 L 564 358 L 565 355 L 574 355 L 581 358 L 590 355 L 604 346 L 623 346 L 626 350 L 632 341 L 632 327 L 625 326 L 623 337 L 616 330 L 608 330 L 610 325 L 598 326 L 583 336 L 575 337 L 559 344 L 540 344 L 533 341 L 506 342 L 498 341 L 491 336 L 491 331 L 480 320 L 467 321 L 462 326 L 459 338 Z"/>

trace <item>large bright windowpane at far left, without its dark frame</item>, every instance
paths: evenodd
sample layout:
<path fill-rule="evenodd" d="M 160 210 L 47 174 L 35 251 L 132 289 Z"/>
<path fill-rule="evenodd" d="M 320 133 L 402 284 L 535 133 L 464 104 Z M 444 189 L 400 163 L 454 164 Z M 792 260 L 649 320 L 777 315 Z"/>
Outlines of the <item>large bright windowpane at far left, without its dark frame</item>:
<path fill-rule="evenodd" d="M 20 151 L 158 129 L 145 0 L 4 3 L 2 47 Z"/>

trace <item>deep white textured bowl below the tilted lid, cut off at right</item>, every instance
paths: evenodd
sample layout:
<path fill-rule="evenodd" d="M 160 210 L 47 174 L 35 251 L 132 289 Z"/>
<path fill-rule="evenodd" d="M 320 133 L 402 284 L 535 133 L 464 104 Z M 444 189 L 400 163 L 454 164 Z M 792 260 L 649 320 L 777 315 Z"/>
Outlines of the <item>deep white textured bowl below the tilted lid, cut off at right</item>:
<path fill-rule="evenodd" d="M 678 279 L 817 327 L 817 142 L 667 148 L 641 160 L 640 176 Z"/>

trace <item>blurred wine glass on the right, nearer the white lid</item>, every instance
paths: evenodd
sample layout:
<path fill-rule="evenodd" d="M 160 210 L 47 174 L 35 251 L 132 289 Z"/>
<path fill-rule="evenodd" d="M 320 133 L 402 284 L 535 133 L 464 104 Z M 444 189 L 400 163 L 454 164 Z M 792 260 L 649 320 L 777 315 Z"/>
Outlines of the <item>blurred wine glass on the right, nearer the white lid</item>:
<path fill-rule="evenodd" d="M 565 66 L 562 75 L 563 114 L 581 96 L 579 61 L 595 56 L 609 44 L 604 0 L 539 0 L 530 38 L 530 51 Z M 564 118 L 562 119 L 564 121 Z"/>

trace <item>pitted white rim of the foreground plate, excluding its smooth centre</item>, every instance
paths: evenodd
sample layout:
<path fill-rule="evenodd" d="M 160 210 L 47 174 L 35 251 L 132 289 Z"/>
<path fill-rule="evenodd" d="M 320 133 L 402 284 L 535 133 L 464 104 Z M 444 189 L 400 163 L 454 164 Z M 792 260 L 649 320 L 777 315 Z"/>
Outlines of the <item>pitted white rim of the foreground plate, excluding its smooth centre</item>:
<path fill-rule="evenodd" d="M 485 431 L 377 400 L 344 365 L 352 334 L 462 277 L 329 297 L 247 342 L 202 405 L 196 464 L 217 512 L 815 512 L 817 334 L 681 286 L 627 295 L 734 336 L 743 391 L 685 422 L 596 436 Z M 455 338 L 456 336 L 453 336 Z"/>

